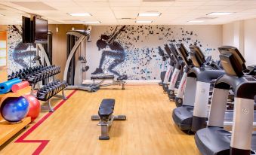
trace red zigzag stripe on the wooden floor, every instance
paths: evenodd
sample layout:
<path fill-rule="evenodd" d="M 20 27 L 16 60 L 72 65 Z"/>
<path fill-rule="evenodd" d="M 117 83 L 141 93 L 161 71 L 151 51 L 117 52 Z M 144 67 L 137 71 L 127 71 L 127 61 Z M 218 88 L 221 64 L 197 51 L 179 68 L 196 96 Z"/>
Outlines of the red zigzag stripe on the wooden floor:
<path fill-rule="evenodd" d="M 66 98 L 69 99 L 72 95 L 76 93 L 76 90 L 73 90 L 72 93 L 69 94 Z M 54 111 L 57 111 L 58 108 L 60 108 L 61 105 L 63 105 L 66 102 L 66 100 L 62 100 L 58 105 L 54 107 Z M 39 147 L 32 153 L 32 155 L 37 155 L 42 152 L 42 150 L 45 148 L 45 146 L 48 144 L 49 140 L 25 140 L 25 138 L 32 133 L 37 127 L 39 127 L 45 120 L 48 119 L 48 117 L 51 116 L 51 114 L 54 114 L 52 112 L 48 112 L 42 119 L 40 119 L 37 123 L 35 123 L 34 126 L 32 126 L 30 129 L 28 129 L 23 135 L 20 136 L 15 143 L 41 143 Z"/>

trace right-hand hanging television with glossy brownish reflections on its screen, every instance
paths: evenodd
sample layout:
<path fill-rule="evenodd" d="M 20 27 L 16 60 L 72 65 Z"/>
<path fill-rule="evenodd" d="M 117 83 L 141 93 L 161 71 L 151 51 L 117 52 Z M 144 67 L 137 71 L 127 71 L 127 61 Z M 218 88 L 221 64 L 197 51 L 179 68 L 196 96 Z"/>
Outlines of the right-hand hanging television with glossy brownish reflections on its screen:
<path fill-rule="evenodd" d="M 48 41 L 48 21 L 39 17 L 33 18 L 35 43 L 46 44 Z"/>

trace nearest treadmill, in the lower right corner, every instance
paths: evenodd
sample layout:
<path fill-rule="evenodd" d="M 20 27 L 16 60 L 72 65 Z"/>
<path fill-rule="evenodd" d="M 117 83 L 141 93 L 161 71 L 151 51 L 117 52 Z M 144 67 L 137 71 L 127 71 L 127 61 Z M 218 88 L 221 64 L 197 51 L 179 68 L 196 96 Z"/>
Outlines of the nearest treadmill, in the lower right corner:
<path fill-rule="evenodd" d="M 253 132 L 256 78 L 245 70 L 245 59 L 236 47 L 220 47 L 221 64 L 226 71 L 214 85 L 208 127 L 195 135 L 202 154 L 255 154 L 256 134 Z M 224 127 L 228 91 L 235 93 L 232 133 Z"/>

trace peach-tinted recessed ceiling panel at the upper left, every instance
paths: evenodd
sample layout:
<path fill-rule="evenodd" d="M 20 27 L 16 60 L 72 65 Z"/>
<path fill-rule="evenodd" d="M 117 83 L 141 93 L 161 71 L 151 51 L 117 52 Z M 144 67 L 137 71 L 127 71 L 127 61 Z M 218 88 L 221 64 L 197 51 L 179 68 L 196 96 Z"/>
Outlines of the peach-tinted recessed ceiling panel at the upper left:
<path fill-rule="evenodd" d="M 57 9 L 52 8 L 49 5 L 45 5 L 43 2 L 11 2 L 14 5 L 19 5 L 23 8 L 28 8 L 33 11 L 56 11 Z"/>

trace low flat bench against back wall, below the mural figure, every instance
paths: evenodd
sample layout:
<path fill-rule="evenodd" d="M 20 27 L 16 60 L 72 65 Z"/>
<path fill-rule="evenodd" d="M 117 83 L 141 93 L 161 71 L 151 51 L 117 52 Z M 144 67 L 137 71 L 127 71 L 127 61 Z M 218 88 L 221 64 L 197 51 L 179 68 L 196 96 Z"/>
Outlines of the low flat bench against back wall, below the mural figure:
<path fill-rule="evenodd" d="M 127 75 L 122 75 L 115 80 L 114 75 L 102 75 L 102 76 L 91 76 L 91 80 L 94 81 L 94 87 L 106 87 L 111 85 L 122 85 L 122 90 L 125 90 L 125 80 L 127 80 Z M 99 83 L 95 83 L 95 80 L 100 80 Z M 112 83 L 103 84 L 104 81 L 110 80 Z"/>

